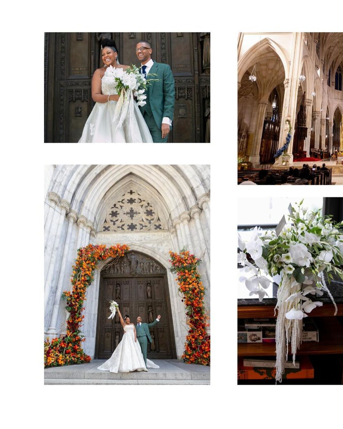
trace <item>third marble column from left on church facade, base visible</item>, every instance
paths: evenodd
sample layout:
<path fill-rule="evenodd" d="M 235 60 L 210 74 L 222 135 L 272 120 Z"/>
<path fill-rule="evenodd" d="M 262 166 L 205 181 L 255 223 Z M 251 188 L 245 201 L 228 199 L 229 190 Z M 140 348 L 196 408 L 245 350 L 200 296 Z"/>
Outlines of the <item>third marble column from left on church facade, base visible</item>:
<path fill-rule="evenodd" d="M 74 222 L 76 222 L 77 220 L 76 211 L 70 210 L 67 215 L 67 219 L 69 221 L 69 224 L 68 224 L 68 229 L 66 233 L 66 241 L 64 243 L 64 248 L 63 248 L 63 256 L 62 256 L 62 262 L 60 266 L 60 274 L 58 276 L 57 289 L 56 289 L 55 298 L 54 298 L 54 306 L 52 308 L 50 326 L 48 328 L 48 331 L 45 332 L 45 334 L 51 338 L 55 337 L 58 333 L 57 326 L 56 326 L 57 316 L 58 316 L 58 310 L 60 307 L 60 300 L 61 300 L 63 286 L 65 285 L 64 282 L 65 282 L 66 263 L 68 259 L 69 243 L 72 236 L 72 227 Z"/>

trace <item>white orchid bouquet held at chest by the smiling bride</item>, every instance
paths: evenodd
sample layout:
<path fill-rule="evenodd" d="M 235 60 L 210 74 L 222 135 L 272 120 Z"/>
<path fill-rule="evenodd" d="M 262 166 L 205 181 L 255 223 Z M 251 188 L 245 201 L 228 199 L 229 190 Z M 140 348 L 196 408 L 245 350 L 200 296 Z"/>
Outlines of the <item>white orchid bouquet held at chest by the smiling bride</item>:
<path fill-rule="evenodd" d="M 151 85 L 151 81 L 158 81 L 159 79 L 146 79 L 141 74 L 140 69 L 131 64 L 126 71 L 122 68 L 114 68 L 109 66 L 105 71 L 105 76 L 114 76 L 117 82 L 116 90 L 120 96 L 114 109 L 113 122 L 117 121 L 117 127 L 123 125 L 127 115 L 134 115 L 133 97 L 137 98 L 138 106 L 144 106 L 147 102 L 144 101 L 147 96 L 144 92 L 147 86 Z M 148 73 L 147 76 L 157 76 L 155 73 Z"/>

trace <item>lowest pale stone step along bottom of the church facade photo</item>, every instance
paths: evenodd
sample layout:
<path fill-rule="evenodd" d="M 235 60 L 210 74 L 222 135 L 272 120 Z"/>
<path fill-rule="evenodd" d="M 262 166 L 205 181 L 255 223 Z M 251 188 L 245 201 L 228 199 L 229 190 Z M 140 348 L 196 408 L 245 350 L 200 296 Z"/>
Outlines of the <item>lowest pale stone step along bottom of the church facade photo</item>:
<path fill-rule="evenodd" d="M 101 380 L 101 379 L 77 379 L 77 378 L 46 378 L 44 381 L 46 385 L 60 385 L 60 384 L 210 384 L 210 380 L 123 380 L 123 379 L 113 379 L 113 380 Z"/>

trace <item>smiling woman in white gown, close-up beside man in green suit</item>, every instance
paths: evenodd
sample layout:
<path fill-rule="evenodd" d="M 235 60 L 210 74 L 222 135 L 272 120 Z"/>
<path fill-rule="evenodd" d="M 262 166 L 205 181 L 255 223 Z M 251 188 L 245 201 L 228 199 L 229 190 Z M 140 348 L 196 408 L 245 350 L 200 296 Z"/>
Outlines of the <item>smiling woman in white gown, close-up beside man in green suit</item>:
<path fill-rule="evenodd" d="M 137 103 L 134 102 L 133 118 L 127 115 L 123 127 L 117 128 L 117 122 L 113 122 L 114 108 L 119 99 L 115 89 L 114 76 L 106 73 L 109 66 L 122 68 L 117 61 L 118 52 L 114 41 L 104 39 L 102 41 L 102 62 L 104 66 L 96 69 L 92 79 L 92 99 L 96 102 L 90 113 L 79 143 L 152 143 L 150 131 L 145 123 Z"/>

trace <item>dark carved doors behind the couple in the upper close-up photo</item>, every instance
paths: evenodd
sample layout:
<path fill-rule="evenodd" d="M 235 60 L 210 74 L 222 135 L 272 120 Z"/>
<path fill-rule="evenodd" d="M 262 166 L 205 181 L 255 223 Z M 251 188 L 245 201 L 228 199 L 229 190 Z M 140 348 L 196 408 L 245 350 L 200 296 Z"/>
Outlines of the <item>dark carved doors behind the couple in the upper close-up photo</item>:
<path fill-rule="evenodd" d="M 78 142 L 93 108 L 91 79 L 100 66 L 102 38 L 114 39 L 121 64 L 140 66 L 139 40 L 175 79 L 174 123 L 169 141 L 210 141 L 210 33 L 45 33 L 44 141 Z M 102 66 L 102 64 L 101 64 Z"/>

